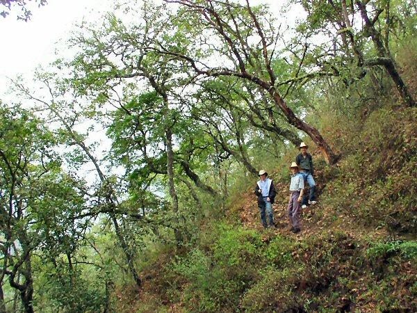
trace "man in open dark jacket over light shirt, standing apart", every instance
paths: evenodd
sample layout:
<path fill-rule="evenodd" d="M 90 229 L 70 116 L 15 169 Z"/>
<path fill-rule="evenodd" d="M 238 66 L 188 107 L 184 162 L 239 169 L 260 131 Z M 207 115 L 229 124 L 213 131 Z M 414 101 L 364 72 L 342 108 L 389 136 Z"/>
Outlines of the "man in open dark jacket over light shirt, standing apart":
<path fill-rule="evenodd" d="M 265 216 L 265 209 L 268 213 L 270 227 L 275 227 L 274 223 L 274 214 L 272 213 L 272 204 L 275 200 L 275 195 L 277 191 L 275 191 L 274 183 L 272 179 L 268 178 L 268 173 L 265 170 L 259 171 L 259 178 L 261 178 L 255 187 L 255 195 L 258 196 L 258 207 L 259 213 L 261 213 L 261 220 L 263 227 L 268 227 L 266 223 L 266 216 Z"/>

